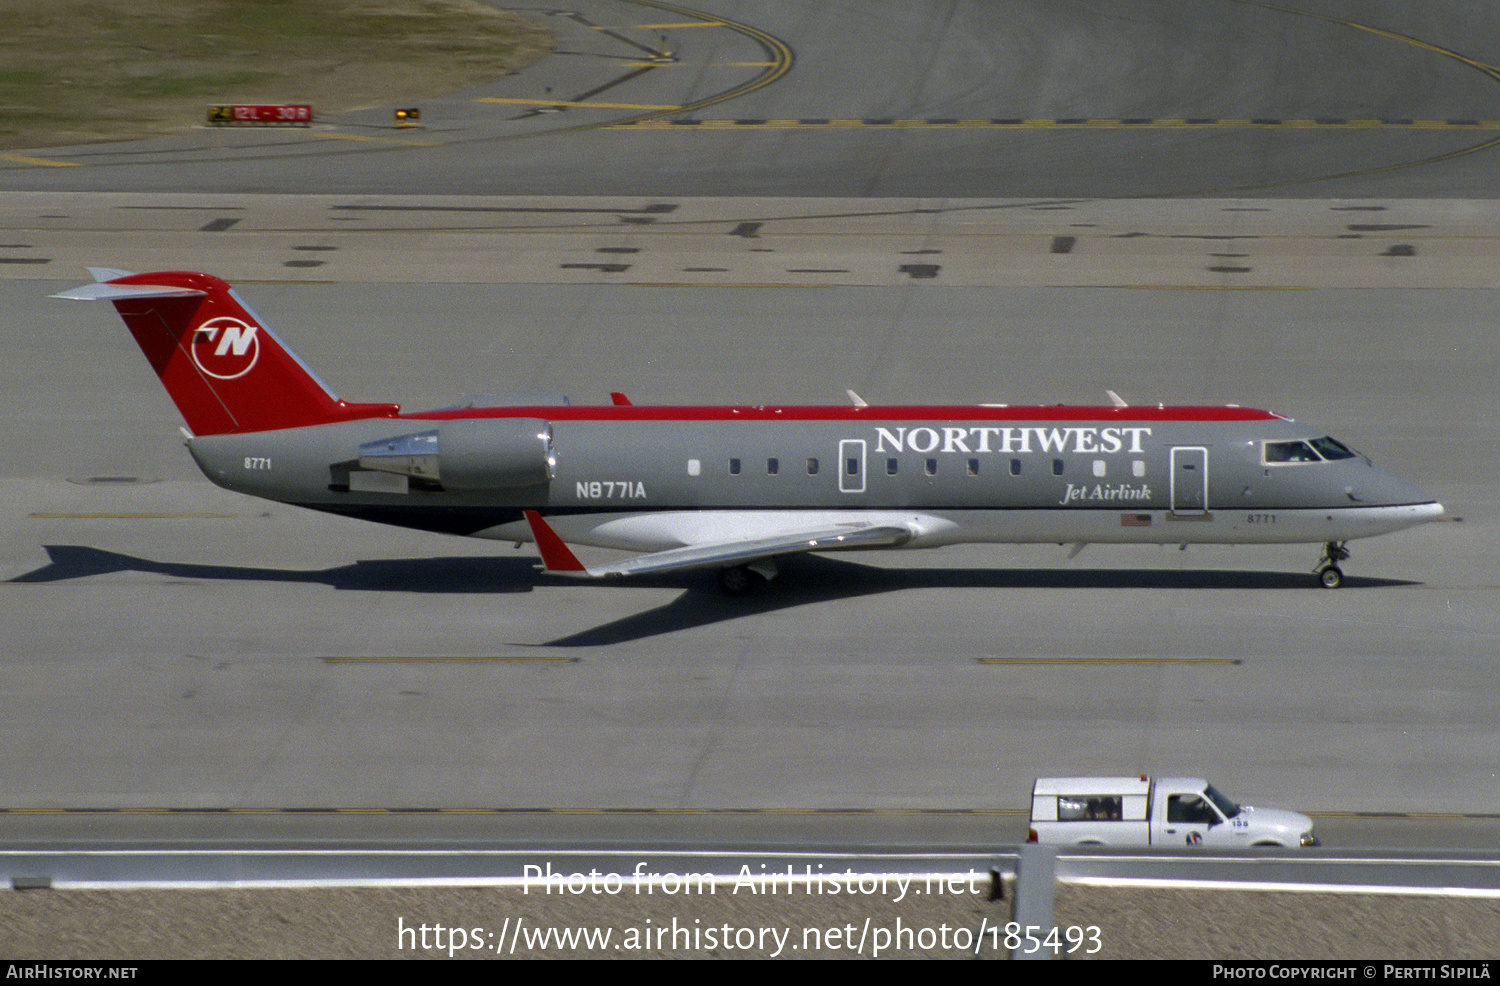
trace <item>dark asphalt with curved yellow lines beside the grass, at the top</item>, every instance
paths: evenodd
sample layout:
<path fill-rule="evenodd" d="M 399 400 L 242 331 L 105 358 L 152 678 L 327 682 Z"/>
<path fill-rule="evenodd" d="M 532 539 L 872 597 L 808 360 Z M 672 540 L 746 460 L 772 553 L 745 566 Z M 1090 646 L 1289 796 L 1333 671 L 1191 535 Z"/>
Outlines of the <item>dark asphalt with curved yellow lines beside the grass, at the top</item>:
<path fill-rule="evenodd" d="M 0 155 L 27 191 L 1492 198 L 1482 0 L 664 5 L 531 12 L 526 72 L 308 131 Z M 232 99 L 225 95 L 224 99 Z M 402 104 L 405 105 L 405 104 Z"/>

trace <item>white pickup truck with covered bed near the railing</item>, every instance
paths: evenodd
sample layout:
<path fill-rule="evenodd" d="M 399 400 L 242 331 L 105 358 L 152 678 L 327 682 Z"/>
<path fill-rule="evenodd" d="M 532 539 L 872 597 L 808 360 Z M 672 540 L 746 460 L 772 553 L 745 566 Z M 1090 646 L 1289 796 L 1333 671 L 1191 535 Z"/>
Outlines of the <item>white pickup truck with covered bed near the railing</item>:
<path fill-rule="evenodd" d="M 1317 845 L 1298 812 L 1234 804 L 1202 777 L 1038 777 L 1028 842 L 1062 845 Z"/>

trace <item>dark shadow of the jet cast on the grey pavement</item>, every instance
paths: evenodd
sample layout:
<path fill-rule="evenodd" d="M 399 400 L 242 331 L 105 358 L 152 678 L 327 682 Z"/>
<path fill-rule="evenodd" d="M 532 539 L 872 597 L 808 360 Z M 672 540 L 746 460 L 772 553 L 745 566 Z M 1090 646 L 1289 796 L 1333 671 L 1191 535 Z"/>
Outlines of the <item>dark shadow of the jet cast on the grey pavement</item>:
<path fill-rule="evenodd" d="M 45 545 L 48 564 L 12 582 L 66 582 L 114 572 L 146 572 L 171 579 L 304 582 L 350 591 L 382 593 L 530 593 L 542 585 L 576 585 L 576 579 L 543 575 L 531 557 L 448 557 L 356 561 L 332 569 L 262 569 L 225 564 L 152 561 L 82 545 Z M 570 633 L 548 647 L 598 647 L 711 626 L 777 609 L 904 590 L 1296 590 L 1317 588 L 1305 572 L 1230 572 L 1221 569 L 885 569 L 820 555 L 780 563 L 782 575 L 747 596 L 724 596 L 711 572 L 632 578 L 628 585 L 684 590 L 672 602 L 603 626 Z M 1413 585 L 1402 579 L 1346 576 L 1344 587 Z M 614 584 L 597 584 L 609 593 Z"/>

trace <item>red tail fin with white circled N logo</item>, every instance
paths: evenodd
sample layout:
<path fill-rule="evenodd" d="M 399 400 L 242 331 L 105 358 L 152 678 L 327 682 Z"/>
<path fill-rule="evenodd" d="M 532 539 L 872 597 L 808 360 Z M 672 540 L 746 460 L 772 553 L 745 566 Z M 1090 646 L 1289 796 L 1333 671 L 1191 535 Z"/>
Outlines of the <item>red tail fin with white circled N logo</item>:
<path fill-rule="evenodd" d="M 392 417 L 396 404 L 348 404 L 288 350 L 226 282 L 204 273 L 112 276 L 52 297 L 108 300 L 195 435 Z"/>

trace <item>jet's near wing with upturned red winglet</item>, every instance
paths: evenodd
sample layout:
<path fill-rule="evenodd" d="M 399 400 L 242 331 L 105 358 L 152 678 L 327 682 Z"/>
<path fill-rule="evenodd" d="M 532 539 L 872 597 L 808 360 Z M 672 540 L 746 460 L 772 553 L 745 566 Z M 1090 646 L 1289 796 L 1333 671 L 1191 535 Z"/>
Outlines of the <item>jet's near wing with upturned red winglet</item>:
<path fill-rule="evenodd" d="M 585 575 L 590 578 L 747 564 L 776 555 L 832 548 L 894 548 L 912 539 L 912 531 L 906 527 L 848 524 L 842 527 L 788 531 L 772 537 L 687 545 L 684 548 L 636 555 L 634 558 L 626 558 L 612 564 L 588 567 L 578 560 L 578 555 L 542 519 L 540 513 L 526 510 L 526 522 L 531 524 L 531 534 L 537 539 L 537 548 L 542 552 L 542 564 L 546 566 L 549 573 Z"/>

